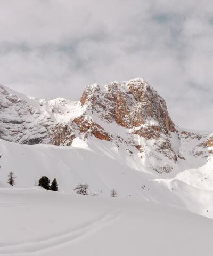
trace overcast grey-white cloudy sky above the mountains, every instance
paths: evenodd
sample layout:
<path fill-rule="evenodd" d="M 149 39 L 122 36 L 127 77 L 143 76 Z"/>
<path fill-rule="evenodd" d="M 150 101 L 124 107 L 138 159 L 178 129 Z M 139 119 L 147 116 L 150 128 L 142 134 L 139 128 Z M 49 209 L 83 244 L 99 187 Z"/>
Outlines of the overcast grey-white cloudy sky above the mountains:
<path fill-rule="evenodd" d="M 213 1 L 1 0 L 0 83 L 79 100 L 142 77 L 180 127 L 213 130 Z"/>

